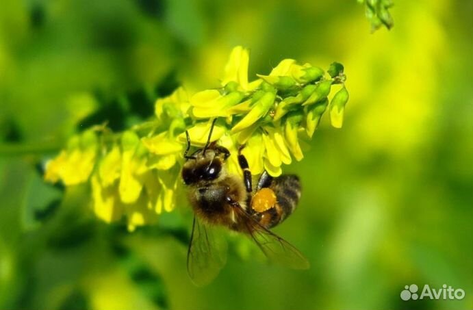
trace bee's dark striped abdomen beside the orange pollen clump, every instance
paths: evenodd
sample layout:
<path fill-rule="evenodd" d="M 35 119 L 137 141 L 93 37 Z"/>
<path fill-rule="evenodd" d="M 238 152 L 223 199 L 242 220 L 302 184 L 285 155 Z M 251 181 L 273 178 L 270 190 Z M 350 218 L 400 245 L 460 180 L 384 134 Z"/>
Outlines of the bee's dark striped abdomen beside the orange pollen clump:
<path fill-rule="evenodd" d="M 276 195 L 274 207 L 259 212 L 257 220 L 266 228 L 271 228 L 283 222 L 297 207 L 301 198 L 301 182 L 296 175 L 281 175 L 272 179 L 269 188 Z"/>

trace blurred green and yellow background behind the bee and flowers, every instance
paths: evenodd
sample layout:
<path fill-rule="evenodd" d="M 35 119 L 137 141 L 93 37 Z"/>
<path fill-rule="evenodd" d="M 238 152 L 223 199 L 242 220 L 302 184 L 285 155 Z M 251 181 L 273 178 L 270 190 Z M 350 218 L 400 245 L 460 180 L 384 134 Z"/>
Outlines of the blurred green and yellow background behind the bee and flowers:
<path fill-rule="evenodd" d="M 0 309 L 472 309 L 473 2 L 394 1 L 370 33 L 356 1 L 6 0 L 0 9 Z M 127 233 L 88 189 L 42 183 L 72 134 L 124 129 L 183 84 L 218 86 L 231 48 L 250 76 L 283 58 L 346 68 L 343 129 L 327 117 L 302 162 L 298 210 L 274 229 L 311 269 L 231 250 L 197 288 L 183 204 Z M 251 256 L 251 255 L 250 255 Z M 463 300 L 400 300 L 443 284 Z"/>

